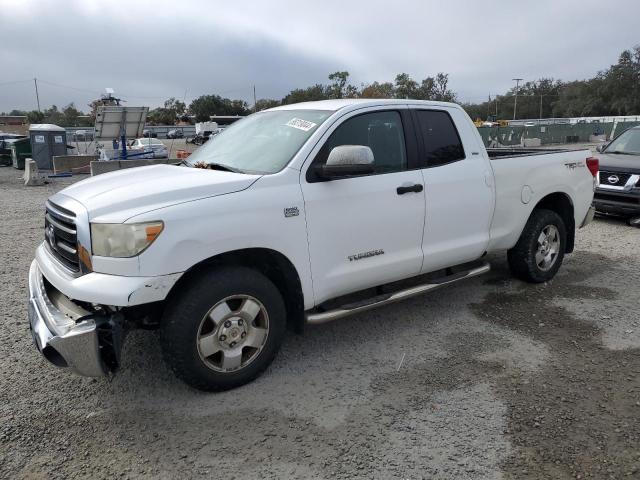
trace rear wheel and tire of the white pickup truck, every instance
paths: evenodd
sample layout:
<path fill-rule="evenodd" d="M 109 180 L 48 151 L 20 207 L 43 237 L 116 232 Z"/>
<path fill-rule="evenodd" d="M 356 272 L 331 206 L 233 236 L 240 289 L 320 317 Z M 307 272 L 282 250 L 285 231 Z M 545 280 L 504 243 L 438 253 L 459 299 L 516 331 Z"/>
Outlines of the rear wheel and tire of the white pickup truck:
<path fill-rule="evenodd" d="M 560 215 L 552 210 L 534 210 L 518 243 L 507 252 L 511 273 L 530 283 L 551 280 L 562 265 L 566 245 L 567 228 Z"/>

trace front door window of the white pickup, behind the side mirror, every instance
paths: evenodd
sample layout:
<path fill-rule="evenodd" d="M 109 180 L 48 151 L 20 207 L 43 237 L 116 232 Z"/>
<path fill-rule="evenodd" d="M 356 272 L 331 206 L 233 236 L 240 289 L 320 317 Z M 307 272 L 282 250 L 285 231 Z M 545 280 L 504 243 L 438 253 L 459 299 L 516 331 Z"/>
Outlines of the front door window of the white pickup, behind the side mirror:
<path fill-rule="evenodd" d="M 326 141 L 310 172 L 327 161 L 329 152 L 340 145 L 365 145 L 371 148 L 375 173 L 399 172 L 407 169 L 407 149 L 400 114 L 396 111 L 373 112 L 346 120 Z M 315 177 L 312 173 L 311 177 Z M 309 180 L 314 178 L 307 177 Z"/>

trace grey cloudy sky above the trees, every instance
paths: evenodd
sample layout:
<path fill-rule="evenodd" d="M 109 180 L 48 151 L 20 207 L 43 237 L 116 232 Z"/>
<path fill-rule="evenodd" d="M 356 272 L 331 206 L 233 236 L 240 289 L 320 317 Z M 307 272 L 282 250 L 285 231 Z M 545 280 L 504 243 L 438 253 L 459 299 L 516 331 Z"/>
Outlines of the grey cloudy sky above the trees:
<path fill-rule="evenodd" d="M 252 102 L 327 82 L 448 72 L 461 101 L 514 77 L 582 79 L 640 43 L 638 0 L 0 0 L 0 111 L 216 93 Z"/>

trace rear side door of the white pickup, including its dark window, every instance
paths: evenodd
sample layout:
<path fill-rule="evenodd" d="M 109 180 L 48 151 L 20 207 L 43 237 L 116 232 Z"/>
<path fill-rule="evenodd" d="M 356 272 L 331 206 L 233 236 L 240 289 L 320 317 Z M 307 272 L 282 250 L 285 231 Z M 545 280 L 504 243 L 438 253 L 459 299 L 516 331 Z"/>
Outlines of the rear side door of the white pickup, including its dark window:
<path fill-rule="evenodd" d="M 489 242 L 494 193 L 477 132 L 458 109 L 412 109 L 424 177 L 422 273 L 475 260 Z"/>

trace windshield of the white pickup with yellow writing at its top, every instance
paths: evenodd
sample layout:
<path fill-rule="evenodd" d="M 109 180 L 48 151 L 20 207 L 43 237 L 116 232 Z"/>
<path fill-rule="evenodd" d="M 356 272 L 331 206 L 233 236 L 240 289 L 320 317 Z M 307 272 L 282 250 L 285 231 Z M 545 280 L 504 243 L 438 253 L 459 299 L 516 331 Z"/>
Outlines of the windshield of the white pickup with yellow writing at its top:
<path fill-rule="evenodd" d="M 276 173 L 333 112 L 274 110 L 235 122 L 211 137 L 188 158 L 190 165 L 205 162 L 243 173 Z"/>

